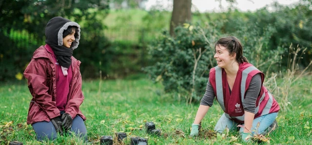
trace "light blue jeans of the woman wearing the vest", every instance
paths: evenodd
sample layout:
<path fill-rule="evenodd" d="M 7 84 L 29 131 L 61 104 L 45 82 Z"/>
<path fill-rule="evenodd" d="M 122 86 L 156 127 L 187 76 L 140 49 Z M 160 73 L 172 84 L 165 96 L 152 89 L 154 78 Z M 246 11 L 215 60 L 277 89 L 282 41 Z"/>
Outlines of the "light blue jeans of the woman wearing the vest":
<path fill-rule="evenodd" d="M 278 113 L 270 113 L 270 114 L 255 118 L 254 122 L 253 122 L 253 127 L 250 131 L 252 133 L 254 133 L 258 122 L 260 122 L 260 125 L 259 125 L 259 128 L 257 129 L 257 132 L 259 134 L 261 134 L 266 129 L 268 129 L 268 127 L 270 127 L 272 125 L 277 114 Z M 219 121 L 215 125 L 215 131 L 222 133 L 226 127 L 230 130 L 235 130 L 235 129 L 237 129 L 237 125 L 239 125 L 239 124 L 240 123 L 234 122 L 233 120 L 230 120 L 229 118 L 227 118 L 223 113 L 222 116 L 220 117 Z M 244 124 L 242 124 L 242 125 L 244 125 Z M 243 128 L 239 129 L 239 132 L 243 132 L 243 131 L 244 131 Z"/>

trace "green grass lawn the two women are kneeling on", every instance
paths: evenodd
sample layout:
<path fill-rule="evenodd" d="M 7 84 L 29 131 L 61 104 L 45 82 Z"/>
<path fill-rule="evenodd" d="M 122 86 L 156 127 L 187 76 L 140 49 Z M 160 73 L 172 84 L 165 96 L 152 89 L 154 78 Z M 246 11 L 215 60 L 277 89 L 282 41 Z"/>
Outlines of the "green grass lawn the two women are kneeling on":
<path fill-rule="evenodd" d="M 277 121 L 279 129 L 269 137 L 271 144 L 302 144 L 312 143 L 312 77 L 301 78 L 290 88 L 292 94 L 288 112 L 280 112 Z M 101 84 L 101 92 L 99 92 Z M 146 79 L 115 80 L 115 81 L 84 81 L 83 93 L 85 100 L 80 109 L 87 117 L 85 122 L 90 144 L 99 145 L 103 135 L 114 136 L 115 132 L 126 132 L 124 140 L 130 144 L 130 136 L 148 138 L 150 145 L 207 145 L 207 144 L 244 144 L 238 138 L 231 142 L 231 136 L 239 137 L 231 131 L 228 138 L 211 139 L 188 137 L 199 104 L 188 105 L 178 102 L 175 98 L 163 92 L 163 86 Z M 204 93 L 204 90 L 203 90 Z M 31 95 L 26 82 L 7 83 L 0 85 L 0 144 L 8 141 L 20 141 L 24 145 L 75 145 L 82 144 L 76 137 L 59 137 L 52 142 L 39 143 L 31 125 L 26 125 Z M 219 105 L 215 102 L 206 117 L 202 120 L 204 130 L 214 129 L 222 115 Z M 5 127 L 8 122 L 11 125 Z M 145 122 L 154 122 L 156 129 L 162 130 L 161 136 L 147 134 Z M 252 143 L 254 144 L 254 143 Z M 263 143 L 262 143 L 263 144 Z"/>

